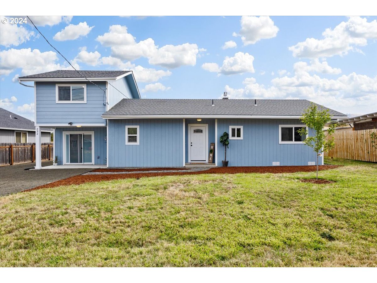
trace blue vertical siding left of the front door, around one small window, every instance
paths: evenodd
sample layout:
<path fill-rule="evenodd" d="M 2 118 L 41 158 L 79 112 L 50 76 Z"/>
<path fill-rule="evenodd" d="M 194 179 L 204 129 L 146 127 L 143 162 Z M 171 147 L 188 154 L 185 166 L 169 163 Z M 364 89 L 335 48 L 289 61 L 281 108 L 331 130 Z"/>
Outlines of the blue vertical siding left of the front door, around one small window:
<path fill-rule="evenodd" d="M 139 126 L 139 145 L 126 145 L 126 125 Z M 182 119 L 109 120 L 109 167 L 182 165 Z"/>

